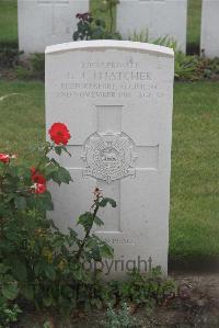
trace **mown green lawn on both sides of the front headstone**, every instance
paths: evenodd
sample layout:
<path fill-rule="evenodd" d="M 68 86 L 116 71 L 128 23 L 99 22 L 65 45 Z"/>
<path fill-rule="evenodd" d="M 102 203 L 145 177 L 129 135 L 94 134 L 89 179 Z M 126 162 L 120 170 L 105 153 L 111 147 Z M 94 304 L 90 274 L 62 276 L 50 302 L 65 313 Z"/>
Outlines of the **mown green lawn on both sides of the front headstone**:
<path fill-rule="evenodd" d="M 219 255 L 219 83 L 174 91 L 170 253 Z M 1 151 L 23 157 L 45 137 L 44 83 L 1 81 L 0 117 Z"/>

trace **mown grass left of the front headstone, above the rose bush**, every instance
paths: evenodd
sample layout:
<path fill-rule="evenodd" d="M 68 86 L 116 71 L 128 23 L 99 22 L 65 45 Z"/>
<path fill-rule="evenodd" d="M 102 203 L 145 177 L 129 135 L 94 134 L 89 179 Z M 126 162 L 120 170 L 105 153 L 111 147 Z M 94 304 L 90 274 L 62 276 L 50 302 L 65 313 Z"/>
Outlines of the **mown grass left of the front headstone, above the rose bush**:
<path fill-rule="evenodd" d="M 0 152 L 33 158 L 33 143 L 45 139 L 44 84 L 0 81 Z"/>

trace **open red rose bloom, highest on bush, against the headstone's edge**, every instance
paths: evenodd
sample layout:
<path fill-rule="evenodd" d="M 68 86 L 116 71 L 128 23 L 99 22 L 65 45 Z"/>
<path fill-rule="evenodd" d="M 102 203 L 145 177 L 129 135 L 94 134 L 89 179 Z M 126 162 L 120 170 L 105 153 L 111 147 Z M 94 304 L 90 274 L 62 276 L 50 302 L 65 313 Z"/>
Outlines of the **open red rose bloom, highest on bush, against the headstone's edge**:
<path fill-rule="evenodd" d="M 48 131 L 51 140 L 56 145 L 67 145 L 71 135 L 64 123 L 54 123 Z"/>

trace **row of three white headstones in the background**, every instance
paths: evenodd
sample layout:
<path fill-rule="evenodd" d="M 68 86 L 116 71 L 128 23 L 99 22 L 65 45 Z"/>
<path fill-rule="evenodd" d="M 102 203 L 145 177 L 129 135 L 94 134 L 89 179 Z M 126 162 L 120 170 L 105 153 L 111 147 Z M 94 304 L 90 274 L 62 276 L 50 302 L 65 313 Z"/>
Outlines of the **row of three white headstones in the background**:
<path fill-rule="evenodd" d="M 77 13 L 89 11 L 89 0 L 18 0 L 19 44 L 24 53 L 44 52 L 47 45 L 70 42 Z M 203 0 L 200 48 L 219 56 L 219 1 Z M 170 36 L 186 49 L 187 0 L 120 0 L 117 31 L 124 39 L 147 32 L 150 39 Z"/>

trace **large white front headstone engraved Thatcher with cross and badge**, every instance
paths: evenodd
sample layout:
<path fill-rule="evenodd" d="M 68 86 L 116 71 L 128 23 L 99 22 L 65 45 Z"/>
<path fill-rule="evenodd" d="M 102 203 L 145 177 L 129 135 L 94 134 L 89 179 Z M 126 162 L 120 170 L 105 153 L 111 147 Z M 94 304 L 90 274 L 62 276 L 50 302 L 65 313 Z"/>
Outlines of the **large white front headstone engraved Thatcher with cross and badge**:
<path fill-rule="evenodd" d="M 50 215 L 67 230 L 89 211 L 95 186 L 116 200 L 95 231 L 115 250 L 110 276 L 134 261 L 141 271 L 168 270 L 173 76 L 173 50 L 155 45 L 90 41 L 46 49 L 47 129 L 61 122 L 72 135 L 72 157 L 60 162 L 73 183 L 51 185 Z"/>

